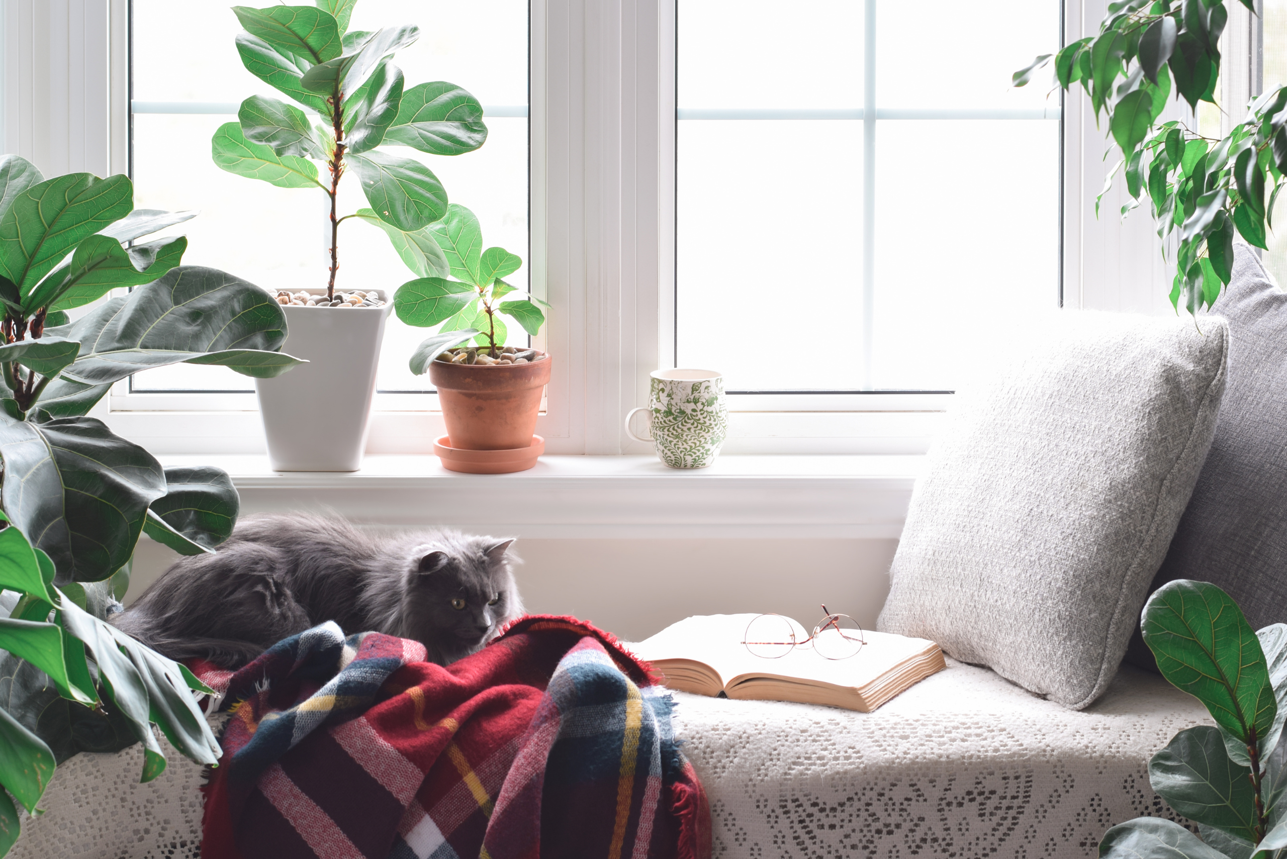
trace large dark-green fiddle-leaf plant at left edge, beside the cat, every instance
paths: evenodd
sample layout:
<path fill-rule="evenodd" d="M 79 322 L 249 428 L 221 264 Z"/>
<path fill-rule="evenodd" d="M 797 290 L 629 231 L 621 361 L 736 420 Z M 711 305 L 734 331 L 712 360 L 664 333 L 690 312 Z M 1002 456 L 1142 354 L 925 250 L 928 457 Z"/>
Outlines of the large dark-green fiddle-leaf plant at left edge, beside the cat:
<path fill-rule="evenodd" d="M 211 552 L 232 534 L 237 490 L 218 468 L 163 468 L 89 417 L 113 382 L 149 368 L 268 378 L 300 364 L 279 351 L 286 318 L 268 292 L 179 265 L 183 237 L 136 242 L 192 215 L 134 210 L 126 176 L 44 179 L 0 157 L 0 783 L 28 811 L 77 751 L 142 741 L 154 778 L 165 759 L 151 724 L 193 760 L 218 759 L 189 693 L 203 688 L 103 616 L 142 534 Z M 17 826 L 0 793 L 0 854 Z"/>

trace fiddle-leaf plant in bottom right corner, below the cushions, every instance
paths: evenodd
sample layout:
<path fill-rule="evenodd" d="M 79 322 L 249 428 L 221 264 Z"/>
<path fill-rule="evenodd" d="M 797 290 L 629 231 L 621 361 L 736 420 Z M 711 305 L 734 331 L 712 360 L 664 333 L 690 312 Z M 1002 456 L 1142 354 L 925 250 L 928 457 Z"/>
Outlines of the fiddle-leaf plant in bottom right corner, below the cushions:
<path fill-rule="evenodd" d="M 1252 631 L 1223 590 L 1180 580 L 1149 598 L 1140 626 L 1162 676 L 1215 721 L 1175 734 L 1148 763 L 1153 790 L 1199 835 L 1174 820 L 1136 818 L 1111 828 L 1099 855 L 1279 855 L 1287 847 L 1287 624 Z"/>

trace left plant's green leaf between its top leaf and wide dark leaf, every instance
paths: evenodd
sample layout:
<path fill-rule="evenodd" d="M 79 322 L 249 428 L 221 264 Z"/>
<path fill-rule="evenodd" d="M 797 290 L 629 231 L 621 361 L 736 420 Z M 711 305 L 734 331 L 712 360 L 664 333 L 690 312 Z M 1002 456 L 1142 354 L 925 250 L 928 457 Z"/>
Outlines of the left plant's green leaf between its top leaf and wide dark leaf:
<path fill-rule="evenodd" d="M 41 307 L 71 310 L 98 301 L 109 291 L 152 283 L 179 265 L 188 239 L 176 235 L 130 248 L 115 238 L 91 235 L 72 253 L 71 262 L 40 282 L 23 302 L 27 312 Z"/>

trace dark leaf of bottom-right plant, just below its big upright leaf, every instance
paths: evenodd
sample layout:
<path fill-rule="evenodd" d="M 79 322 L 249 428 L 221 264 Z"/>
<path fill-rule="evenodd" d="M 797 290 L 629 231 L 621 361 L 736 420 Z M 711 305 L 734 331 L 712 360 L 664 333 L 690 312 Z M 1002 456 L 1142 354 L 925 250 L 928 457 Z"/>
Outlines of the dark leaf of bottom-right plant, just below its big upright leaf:
<path fill-rule="evenodd" d="M 1256 788 L 1251 770 L 1229 760 L 1219 728 L 1198 725 L 1175 734 L 1148 763 L 1157 795 L 1194 823 L 1256 840 Z"/>

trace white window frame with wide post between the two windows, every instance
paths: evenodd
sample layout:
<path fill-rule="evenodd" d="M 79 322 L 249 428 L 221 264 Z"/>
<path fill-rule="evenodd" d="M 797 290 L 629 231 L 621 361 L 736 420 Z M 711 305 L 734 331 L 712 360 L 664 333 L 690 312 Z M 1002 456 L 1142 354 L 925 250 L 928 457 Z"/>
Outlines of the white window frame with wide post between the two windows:
<path fill-rule="evenodd" d="M 532 289 L 553 305 L 538 345 L 555 361 L 537 432 L 555 454 L 651 453 L 622 423 L 674 354 L 674 0 L 530 3 Z M 1095 32 L 1106 8 L 1066 0 L 1066 40 Z M 46 174 L 124 172 L 126 0 L 5 0 L 0 10 L 4 150 Z M 1112 216 L 1115 189 L 1095 219 L 1108 165 L 1080 87 L 1063 130 L 1064 306 L 1170 312 L 1147 212 Z M 377 404 L 368 451 L 430 453 L 441 415 L 398 396 Z M 951 400 L 732 396 L 725 451 L 923 453 Z M 252 395 L 113 392 L 95 415 L 157 453 L 263 451 Z"/>

